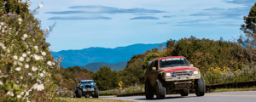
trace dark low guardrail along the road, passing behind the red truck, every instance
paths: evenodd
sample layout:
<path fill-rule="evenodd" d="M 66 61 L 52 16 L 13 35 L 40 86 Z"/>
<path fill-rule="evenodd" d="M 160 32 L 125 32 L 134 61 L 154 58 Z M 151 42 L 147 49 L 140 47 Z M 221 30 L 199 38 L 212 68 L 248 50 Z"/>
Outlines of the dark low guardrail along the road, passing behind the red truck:
<path fill-rule="evenodd" d="M 221 84 L 211 84 L 206 85 L 206 92 L 211 93 L 213 89 L 216 88 L 243 88 L 243 87 L 252 87 L 256 86 L 256 80 L 254 81 L 246 81 L 246 82 L 230 82 L 230 83 L 221 83 Z M 190 91 L 194 93 L 194 90 Z M 132 93 L 132 94 L 117 94 L 117 97 L 124 97 L 124 96 L 134 96 L 134 95 L 144 95 L 144 92 L 140 93 Z"/>

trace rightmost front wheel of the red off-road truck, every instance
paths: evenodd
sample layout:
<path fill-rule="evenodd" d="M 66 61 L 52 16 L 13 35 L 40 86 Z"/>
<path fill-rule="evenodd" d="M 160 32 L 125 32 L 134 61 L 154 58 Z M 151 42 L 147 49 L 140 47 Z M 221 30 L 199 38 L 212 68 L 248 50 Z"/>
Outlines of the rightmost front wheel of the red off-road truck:
<path fill-rule="evenodd" d="M 195 94 L 196 96 L 204 96 L 206 93 L 206 86 L 203 77 L 195 80 Z"/>

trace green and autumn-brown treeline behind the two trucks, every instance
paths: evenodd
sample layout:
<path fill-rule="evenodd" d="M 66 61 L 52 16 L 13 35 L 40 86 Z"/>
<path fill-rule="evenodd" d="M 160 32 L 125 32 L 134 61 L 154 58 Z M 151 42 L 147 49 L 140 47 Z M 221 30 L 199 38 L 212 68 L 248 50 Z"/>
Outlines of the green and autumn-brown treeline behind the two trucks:
<path fill-rule="evenodd" d="M 226 67 L 237 71 L 250 62 L 246 48 L 236 42 L 227 42 L 222 38 L 213 41 L 189 37 L 177 42 L 170 39 L 166 42 L 166 46 L 160 45 L 159 48 L 153 48 L 144 54 L 134 55 L 127 66 L 120 71 L 112 71 L 111 67 L 102 66 L 99 71 L 92 72 L 74 66 L 61 68 L 59 71 L 61 75 L 55 75 L 55 79 L 60 82 L 61 87 L 69 89 L 73 89 L 81 79 L 94 79 L 100 90 L 119 88 L 120 81 L 125 87 L 129 87 L 135 83 L 143 84 L 144 71 L 150 60 L 167 56 L 186 57 L 191 64 L 201 70 L 201 74 L 205 74 L 212 67 Z"/>

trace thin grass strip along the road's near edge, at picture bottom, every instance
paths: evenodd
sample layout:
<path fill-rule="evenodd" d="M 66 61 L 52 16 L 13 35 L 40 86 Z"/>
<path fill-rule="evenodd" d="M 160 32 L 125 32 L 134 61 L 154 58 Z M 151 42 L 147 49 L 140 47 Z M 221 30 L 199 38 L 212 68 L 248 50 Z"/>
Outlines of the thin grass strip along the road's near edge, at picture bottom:
<path fill-rule="evenodd" d="M 55 102 L 134 102 L 129 100 L 118 99 L 97 99 L 97 98 L 61 98 L 56 99 Z"/>

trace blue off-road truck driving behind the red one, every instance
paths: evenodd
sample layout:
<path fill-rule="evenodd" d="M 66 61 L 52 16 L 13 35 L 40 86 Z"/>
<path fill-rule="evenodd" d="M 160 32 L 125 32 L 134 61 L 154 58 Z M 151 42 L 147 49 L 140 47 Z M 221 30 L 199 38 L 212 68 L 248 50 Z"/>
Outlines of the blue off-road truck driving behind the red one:
<path fill-rule="evenodd" d="M 96 82 L 94 80 L 80 80 L 79 85 L 75 87 L 73 92 L 74 98 L 81 98 L 84 96 L 85 98 L 93 98 L 99 97 L 99 90 L 96 88 Z"/>

